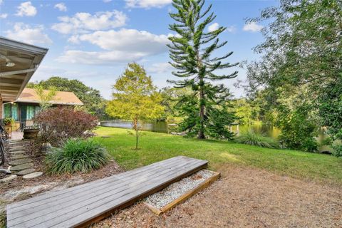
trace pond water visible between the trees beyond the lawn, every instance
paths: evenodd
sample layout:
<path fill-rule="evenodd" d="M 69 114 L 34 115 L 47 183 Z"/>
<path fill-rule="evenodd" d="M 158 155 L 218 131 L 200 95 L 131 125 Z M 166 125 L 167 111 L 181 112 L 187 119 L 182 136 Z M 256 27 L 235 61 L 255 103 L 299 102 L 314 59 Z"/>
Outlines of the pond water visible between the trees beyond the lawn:
<path fill-rule="evenodd" d="M 101 121 L 101 126 L 104 127 L 113 127 L 113 128 L 126 128 L 132 129 L 132 122 L 127 120 L 110 120 L 110 121 Z M 172 133 L 175 132 L 175 125 L 169 124 L 164 121 L 145 121 L 142 125 L 143 130 L 152 131 L 155 133 Z M 268 137 L 277 138 L 280 134 L 280 130 L 278 128 L 269 126 L 269 125 L 233 125 L 232 131 L 234 133 L 242 133 L 247 130 L 254 130 L 255 133 L 263 134 Z M 323 130 L 320 131 L 318 135 L 318 142 L 321 142 L 326 135 L 323 133 Z M 328 150 L 328 147 L 321 147 L 320 150 Z"/>

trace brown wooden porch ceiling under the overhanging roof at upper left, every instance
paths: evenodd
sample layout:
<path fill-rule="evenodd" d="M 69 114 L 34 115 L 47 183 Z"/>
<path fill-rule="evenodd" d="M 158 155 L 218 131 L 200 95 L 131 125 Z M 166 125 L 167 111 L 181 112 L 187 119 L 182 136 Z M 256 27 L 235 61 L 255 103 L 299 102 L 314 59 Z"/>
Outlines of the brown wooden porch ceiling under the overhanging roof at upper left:
<path fill-rule="evenodd" d="M 0 95 L 14 101 L 25 88 L 48 49 L 0 36 Z M 8 66 L 8 63 L 14 66 Z M 7 65 L 7 66 L 6 66 Z"/>

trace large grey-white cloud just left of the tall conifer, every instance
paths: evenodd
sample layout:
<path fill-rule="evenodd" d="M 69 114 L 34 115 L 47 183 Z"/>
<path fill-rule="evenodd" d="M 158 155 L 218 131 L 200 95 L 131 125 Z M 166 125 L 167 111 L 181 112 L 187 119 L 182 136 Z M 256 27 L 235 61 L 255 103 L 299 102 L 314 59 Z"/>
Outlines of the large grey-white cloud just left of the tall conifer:
<path fill-rule="evenodd" d="M 167 35 L 155 35 L 147 31 L 122 28 L 119 31 L 95 31 L 71 36 L 69 41 L 88 41 L 105 51 L 68 50 L 58 61 L 83 64 L 113 64 L 138 61 L 167 51 Z"/>

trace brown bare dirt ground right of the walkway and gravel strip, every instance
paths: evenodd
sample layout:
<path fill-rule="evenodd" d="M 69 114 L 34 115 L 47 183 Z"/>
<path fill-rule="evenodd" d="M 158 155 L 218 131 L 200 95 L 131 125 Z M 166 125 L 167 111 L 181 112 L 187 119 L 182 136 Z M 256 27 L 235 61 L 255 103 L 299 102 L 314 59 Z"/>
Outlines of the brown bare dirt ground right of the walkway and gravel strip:
<path fill-rule="evenodd" d="M 210 187 L 157 216 L 142 202 L 98 227 L 342 227 L 342 187 L 247 167 L 221 167 Z"/>

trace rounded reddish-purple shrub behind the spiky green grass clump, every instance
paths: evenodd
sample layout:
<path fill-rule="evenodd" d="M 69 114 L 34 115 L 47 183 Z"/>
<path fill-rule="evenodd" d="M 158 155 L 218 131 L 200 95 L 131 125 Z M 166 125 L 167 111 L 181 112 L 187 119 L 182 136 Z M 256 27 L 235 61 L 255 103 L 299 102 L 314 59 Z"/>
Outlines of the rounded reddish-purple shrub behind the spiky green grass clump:
<path fill-rule="evenodd" d="M 88 138 L 97 126 L 97 118 L 82 110 L 58 107 L 39 112 L 33 121 L 39 125 L 43 142 L 61 145 L 69 138 Z"/>

